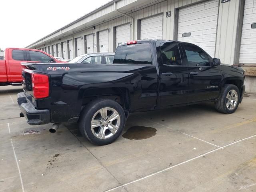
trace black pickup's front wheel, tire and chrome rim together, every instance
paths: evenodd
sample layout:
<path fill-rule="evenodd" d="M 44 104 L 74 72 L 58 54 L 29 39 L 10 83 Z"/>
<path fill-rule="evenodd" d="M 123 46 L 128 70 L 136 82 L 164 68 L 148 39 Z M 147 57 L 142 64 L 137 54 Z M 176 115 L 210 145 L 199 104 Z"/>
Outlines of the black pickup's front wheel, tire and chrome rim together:
<path fill-rule="evenodd" d="M 215 102 L 218 112 L 231 114 L 236 111 L 240 102 L 240 92 L 237 86 L 226 84 L 221 91 L 221 97 Z"/>

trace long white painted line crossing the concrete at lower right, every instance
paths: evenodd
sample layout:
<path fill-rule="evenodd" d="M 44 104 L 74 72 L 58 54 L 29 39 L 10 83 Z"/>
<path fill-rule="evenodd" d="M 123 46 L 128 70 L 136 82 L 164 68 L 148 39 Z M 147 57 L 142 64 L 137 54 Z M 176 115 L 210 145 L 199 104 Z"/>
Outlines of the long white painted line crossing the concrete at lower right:
<path fill-rule="evenodd" d="M 129 185 L 129 184 L 138 182 L 138 181 L 140 181 L 140 180 L 144 180 L 144 179 L 146 179 L 146 178 L 148 178 L 148 177 L 151 177 L 151 176 L 154 176 L 154 175 L 159 174 L 159 173 L 161 173 L 161 172 L 170 170 L 170 169 L 172 169 L 172 168 L 174 168 L 174 167 L 177 167 L 177 166 L 180 166 L 180 165 L 182 165 L 182 164 L 188 163 L 188 162 L 193 161 L 193 160 L 195 160 L 195 159 L 198 159 L 198 158 L 200 158 L 200 157 L 202 157 L 202 156 L 205 156 L 205 155 L 210 154 L 210 153 L 212 153 L 212 152 L 215 152 L 215 151 L 217 151 L 217 150 L 223 149 L 223 148 L 225 148 L 225 147 L 231 146 L 231 145 L 236 144 L 236 143 L 238 143 L 238 142 L 241 142 L 241 141 L 244 141 L 244 140 L 248 140 L 248 139 L 253 138 L 253 137 L 255 137 L 255 136 L 256 136 L 256 135 L 253 135 L 253 136 L 250 136 L 250 137 L 247 137 L 247 138 L 244 138 L 244 139 L 241 139 L 241 140 L 232 142 L 232 143 L 230 143 L 230 144 L 227 144 L 227 145 L 222 146 L 222 147 L 220 147 L 220 148 L 216 148 L 216 149 L 214 149 L 214 150 L 211 150 L 211 151 L 209 151 L 209 152 L 206 152 L 206 153 L 204 153 L 204 154 L 201 154 L 201 155 L 199 155 L 199 156 L 196 156 L 196 157 L 191 158 L 191 159 L 189 159 L 189 160 L 186 160 L 186 161 L 184 161 L 184 162 L 180 162 L 180 163 L 178 163 L 178 164 L 176 164 L 176 165 L 174 165 L 174 166 L 170 166 L 170 167 L 168 167 L 168 168 L 165 168 L 165 169 L 162 169 L 162 170 L 160 170 L 160 171 L 154 172 L 154 173 L 152 173 L 152 174 L 149 174 L 149 175 L 147 175 L 147 176 L 144 176 L 144 177 L 141 177 L 141 178 L 139 178 L 139 179 L 133 180 L 133 181 L 131 181 L 131 182 L 122 184 L 122 185 L 120 185 L 120 186 L 116 186 L 116 187 L 111 188 L 111 189 L 109 189 L 109 190 L 106 190 L 106 191 L 104 191 L 104 192 L 110 192 L 110 191 L 113 191 L 113 190 L 118 189 L 118 188 L 121 188 L 121 187 L 124 188 L 124 186 L 127 186 L 127 185 Z"/>

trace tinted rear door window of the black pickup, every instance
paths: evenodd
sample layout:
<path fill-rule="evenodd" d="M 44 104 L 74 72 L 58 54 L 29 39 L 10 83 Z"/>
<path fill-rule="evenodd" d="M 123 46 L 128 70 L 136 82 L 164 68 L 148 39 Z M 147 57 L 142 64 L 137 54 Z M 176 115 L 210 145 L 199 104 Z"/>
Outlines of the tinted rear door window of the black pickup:
<path fill-rule="evenodd" d="M 161 56 L 165 65 L 181 65 L 180 52 L 177 44 L 161 43 Z"/>

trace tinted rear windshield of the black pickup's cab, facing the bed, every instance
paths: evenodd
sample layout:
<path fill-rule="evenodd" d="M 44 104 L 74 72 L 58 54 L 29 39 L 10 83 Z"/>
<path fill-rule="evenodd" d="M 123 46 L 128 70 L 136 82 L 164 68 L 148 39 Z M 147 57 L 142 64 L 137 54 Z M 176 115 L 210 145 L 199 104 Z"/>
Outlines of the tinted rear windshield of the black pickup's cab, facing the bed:
<path fill-rule="evenodd" d="M 152 64 L 149 43 L 118 46 L 113 64 Z"/>

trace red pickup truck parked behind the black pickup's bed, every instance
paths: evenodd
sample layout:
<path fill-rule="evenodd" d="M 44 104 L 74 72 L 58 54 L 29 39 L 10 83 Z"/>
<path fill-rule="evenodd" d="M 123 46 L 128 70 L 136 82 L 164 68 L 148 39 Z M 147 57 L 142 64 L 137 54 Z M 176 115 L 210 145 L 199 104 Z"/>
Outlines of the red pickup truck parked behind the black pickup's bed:
<path fill-rule="evenodd" d="M 66 63 L 41 50 L 6 48 L 3 60 L 0 59 L 0 86 L 22 84 L 21 62 Z"/>

